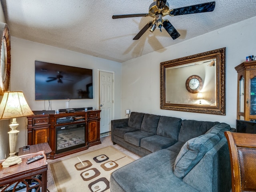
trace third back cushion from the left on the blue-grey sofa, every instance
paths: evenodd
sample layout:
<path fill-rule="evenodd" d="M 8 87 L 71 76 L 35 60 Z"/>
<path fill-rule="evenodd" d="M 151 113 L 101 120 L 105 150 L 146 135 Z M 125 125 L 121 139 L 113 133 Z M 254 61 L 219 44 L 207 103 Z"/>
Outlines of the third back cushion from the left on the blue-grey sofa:
<path fill-rule="evenodd" d="M 176 117 L 160 116 L 156 134 L 178 140 L 182 119 Z"/>

